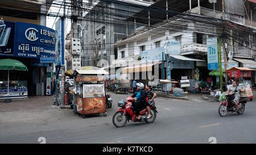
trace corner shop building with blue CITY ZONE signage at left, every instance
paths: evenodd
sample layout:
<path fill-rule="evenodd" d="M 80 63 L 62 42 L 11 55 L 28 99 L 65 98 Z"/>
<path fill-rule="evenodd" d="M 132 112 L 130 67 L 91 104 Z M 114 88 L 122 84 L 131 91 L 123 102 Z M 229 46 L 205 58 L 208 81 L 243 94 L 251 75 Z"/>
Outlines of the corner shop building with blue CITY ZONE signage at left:
<path fill-rule="evenodd" d="M 51 4 L 0 1 L 0 60 L 18 60 L 28 69 L 10 70 L 9 98 L 52 95 L 55 30 L 46 27 L 46 14 L 42 14 Z M 0 70 L 0 99 L 7 98 L 7 75 L 7 70 Z"/>

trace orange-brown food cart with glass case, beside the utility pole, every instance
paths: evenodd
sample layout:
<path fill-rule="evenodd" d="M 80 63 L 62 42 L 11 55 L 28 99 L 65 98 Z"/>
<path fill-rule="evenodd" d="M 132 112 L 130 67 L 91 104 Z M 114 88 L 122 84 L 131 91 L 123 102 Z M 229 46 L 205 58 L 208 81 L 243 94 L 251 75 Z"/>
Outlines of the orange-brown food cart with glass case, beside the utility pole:
<path fill-rule="evenodd" d="M 77 113 L 85 118 L 88 114 L 106 112 L 105 70 L 75 70 Z"/>

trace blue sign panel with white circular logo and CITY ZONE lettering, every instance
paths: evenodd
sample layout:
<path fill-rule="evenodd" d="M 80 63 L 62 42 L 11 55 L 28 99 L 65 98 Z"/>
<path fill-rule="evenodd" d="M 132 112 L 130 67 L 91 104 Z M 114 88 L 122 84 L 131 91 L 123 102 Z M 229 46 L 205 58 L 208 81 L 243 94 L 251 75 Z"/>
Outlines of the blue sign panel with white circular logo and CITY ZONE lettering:
<path fill-rule="evenodd" d="M 42 58 L 55 57 L 55 30 L 17 22 L 14 56 Z"/>

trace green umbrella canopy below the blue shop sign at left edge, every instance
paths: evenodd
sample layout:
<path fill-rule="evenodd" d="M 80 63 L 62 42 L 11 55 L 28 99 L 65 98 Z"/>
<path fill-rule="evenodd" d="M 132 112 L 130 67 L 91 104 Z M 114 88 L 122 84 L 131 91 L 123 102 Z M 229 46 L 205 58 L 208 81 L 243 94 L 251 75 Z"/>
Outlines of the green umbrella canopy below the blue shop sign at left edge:
<path fill-rule="evenodd" d="M 28 70 L 27 67 L 22 64 L 22 62 L 14 59 L 1 59 L 0 60 L 0 70 Z"/>

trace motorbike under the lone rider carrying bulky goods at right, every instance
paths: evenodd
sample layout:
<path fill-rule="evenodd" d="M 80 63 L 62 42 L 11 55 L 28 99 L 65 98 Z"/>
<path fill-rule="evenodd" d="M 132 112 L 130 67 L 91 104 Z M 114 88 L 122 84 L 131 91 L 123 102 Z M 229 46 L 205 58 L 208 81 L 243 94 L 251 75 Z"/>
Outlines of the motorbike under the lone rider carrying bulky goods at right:
<path fill-rule="evenodd" d="M 236 93 L 237 90 L 235 92 L 227 92 L 226 95 L 226 100 L 224 100 L 223 102 L 220 103 L 220 107 L 218 108 L 218 114 L 220 114 L 220 116 L 226 116 L 226 114 L 230 113 L 232 114 L 233 112 L 237 112 L 238 114 L 243 114 L 243 112 L 245 111 L 245 103 L 247 102 L 246 99 L 240 99 L 238 106 L 241 107 L 240 110 L 236 110 L 236 106 L 233 103 L 233 100 L 230 98 L 234 98 L 232 97 L 234 95 L 234 93 Z"/>

